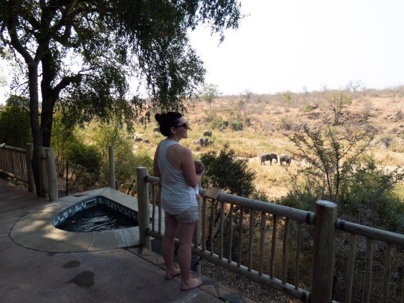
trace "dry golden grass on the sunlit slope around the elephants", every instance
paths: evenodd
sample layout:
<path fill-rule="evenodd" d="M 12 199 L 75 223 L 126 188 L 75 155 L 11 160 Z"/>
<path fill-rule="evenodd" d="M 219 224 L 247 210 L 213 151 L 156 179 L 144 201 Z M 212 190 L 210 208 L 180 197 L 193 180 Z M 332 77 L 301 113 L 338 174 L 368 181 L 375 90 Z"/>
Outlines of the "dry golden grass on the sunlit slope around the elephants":
<path fill-rule="evenodd" d="M 192 129 L 188 131 L 189 138 L 182 140 L 181 144 L 189 147 L 195 157 L 209 150 L 220 150 L 225 142 L 235 150 L 238 157 L 249 158 L 249 167 L 257 172 L 257 188 L 264 191 L 270 197 L 279 197 L 287 192 L 283 181 L 287 181 L 285 168 L 278 164 L 272 166 L 260 166 L 258 156 L 261 153 L 286 153 L 294 150 L 293 144 L 285 136 L 291 134 L 301 123 L 311 127 L 322 125 L 322 115 L 329 112 L 322 104 L 322 99 L 309 94 L 304 97 L 296 97 L 294 104 L 287 110 L 282 105 L 278 96 L 261 96 L 261 102 L 252 103 L 249 110 L 250 126 L 241 131 L 234 131 L 230 127 L 223 131 L 212 129 L 209 117 L 212 115 L 222 117 L 223 120 L 232 122 L 243 120 L 237 107 L 237 96 L 224 96 L 212 103 L 212 112 L 206 103 L 194 103 L 188 107 L 185 114 Z M 304 112 L 305 104 L 317 104 L 318 107 L 310 112 Z M 369 151 L 382 165 L 397 167 L 404 164 L 404 98 L 361 97 L 354 99 L 352 104 L 343 110 L 341 116 L 342 128 L 348 124 L 365 123 L 369 129 L 377 129 L 376 144 Z M 142 148 L 153 157 L 154 150 L 163 136 L 153 132 L 156 123 L 138 126 L 136 135 L 143 139 L 149 139 L 150 143 L 134 142 L 134 150 Z M 289 129 L 285 129 L 289 128 Z M 215 143 L 209 147 L 201 147 L 192 144 L 193 141 L 203 137 L 204 130 L 212 130 Z M 383 138 L 389 138 L 387 149 L 380 149 L 378 142 Z M 292 160 L 290 170 L 296 169 L 296 160 Z M 274 181 L 276 180 L 276 181 Z"/>

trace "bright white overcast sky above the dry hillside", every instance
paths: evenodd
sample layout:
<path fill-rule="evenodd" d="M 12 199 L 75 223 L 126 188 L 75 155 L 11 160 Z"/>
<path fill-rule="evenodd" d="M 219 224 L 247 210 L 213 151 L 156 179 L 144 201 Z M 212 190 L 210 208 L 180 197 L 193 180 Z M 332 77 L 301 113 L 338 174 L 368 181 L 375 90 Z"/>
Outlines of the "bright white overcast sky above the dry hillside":
<path fill-rule="evenodd" d="M 404 84 L 404 1 L 242 0 L 241 10 L 221 44 L 209 28 L 189 33 L 206 82 L 223 94 Z M 7 91 L 0 87 L 0 104 Z"/>

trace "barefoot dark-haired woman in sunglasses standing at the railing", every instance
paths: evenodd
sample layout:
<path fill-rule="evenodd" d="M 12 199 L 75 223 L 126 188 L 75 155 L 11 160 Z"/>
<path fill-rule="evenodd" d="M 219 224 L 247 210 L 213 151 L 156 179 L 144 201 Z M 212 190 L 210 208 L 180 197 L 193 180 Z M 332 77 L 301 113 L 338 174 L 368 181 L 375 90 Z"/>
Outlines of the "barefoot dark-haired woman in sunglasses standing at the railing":
<path fill-rule="evenodd" d="M 163 237 L 163 256 L 166 264 L 166 279 L 181 273 L 181 290 L 199 287 L 200 279 L 190 277 L 191 242 L 198 218 L 198 204 L 193 187 L 200 180 L 195 173 L 192 152 L 179 144 L 188 138 L 188 124 L 185 118 L 176 112 L 156 114 L 160 132 L 167 138 L 156 148 L 153 170 L 156 177 L 161 177 L 161 207 L 165 212 L 165 229 Z M 180 248 L 178 263 L 174 268 L 174 237 L 179 232 Z"/>

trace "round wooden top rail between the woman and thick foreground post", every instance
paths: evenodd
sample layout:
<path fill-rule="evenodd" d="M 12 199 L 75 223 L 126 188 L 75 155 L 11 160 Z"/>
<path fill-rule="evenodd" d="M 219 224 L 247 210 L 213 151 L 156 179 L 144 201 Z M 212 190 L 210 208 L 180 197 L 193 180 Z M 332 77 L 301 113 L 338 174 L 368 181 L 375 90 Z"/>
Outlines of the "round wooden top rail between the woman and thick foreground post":
<path fill-rule="evenodd" d="M 157 182 L 159 178 L 154 176 L 146 176 L 146 182 Z M 205 189 L 199 188 L 199 193 L 204 194 Z M 234 204 L 247 209 L 252 209 L 267 214 L 273 214 L 280 217 L 292 219 L 297 222 L 305 222 L 307 224 L 314 224 L 314 213 L 294 209 L 291 207 L 276 205 L 260 200 L 249 199 L 246 197 L 240 197 L 234 194 L 221 192 L 217 198 L 218 201 L 222 201 L 228 204 Z"/>

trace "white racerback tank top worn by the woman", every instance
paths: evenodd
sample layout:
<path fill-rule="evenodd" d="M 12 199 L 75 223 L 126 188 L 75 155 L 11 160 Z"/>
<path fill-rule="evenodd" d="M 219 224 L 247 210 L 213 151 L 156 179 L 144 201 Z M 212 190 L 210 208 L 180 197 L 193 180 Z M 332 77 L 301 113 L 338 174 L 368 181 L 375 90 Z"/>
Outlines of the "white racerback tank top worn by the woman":
<path fill-rule="evenodd" d="M 161 206 L 167 213 L 178 215 L 198 203 L 183 171 L 174 168 L 167 160 L 167 148 L 174 144 L 179 143 L 169 139 L 161 141 L 157 164 L 162 177 Z"/>

